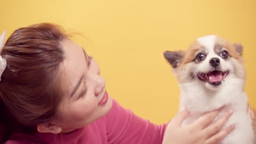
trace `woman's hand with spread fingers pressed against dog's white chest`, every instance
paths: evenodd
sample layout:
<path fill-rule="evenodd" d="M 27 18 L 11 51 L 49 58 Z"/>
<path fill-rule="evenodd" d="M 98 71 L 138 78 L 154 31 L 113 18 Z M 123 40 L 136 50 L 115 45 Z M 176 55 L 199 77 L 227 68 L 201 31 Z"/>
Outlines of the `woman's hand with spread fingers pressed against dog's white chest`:
<path fill-rule="evenodd" d="M 212 120 L 219 114 L 219 112 L 220 109 L 207 112 L 205 115 L 198 118 L 195 122 L 185 127 L 180 126 L 184 119 L 188 117 L 189 112 L 182 111 L 177 113 L 177 115 L 167 125 L 162 144 L 218 143 L 232 130 L 235 129 L 235 125 L 230 125 L 230 127 L 220 130 L 232 115 L 232 111 L 226 112 L 215 122 L 211 123 Z"/>

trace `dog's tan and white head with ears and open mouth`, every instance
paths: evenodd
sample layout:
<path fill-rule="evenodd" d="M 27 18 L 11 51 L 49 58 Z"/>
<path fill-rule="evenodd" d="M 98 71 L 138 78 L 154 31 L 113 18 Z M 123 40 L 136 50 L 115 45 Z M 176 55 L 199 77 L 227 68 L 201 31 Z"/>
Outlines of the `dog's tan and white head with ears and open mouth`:
<path fill-rule="evenodd" d="M 165 51 L 180 83 L 205 83 L 216 90 L 232 78 L 245 79 L 242 45 L 230 44 L 217 35 L 197 39 L 186 51 Z"/>

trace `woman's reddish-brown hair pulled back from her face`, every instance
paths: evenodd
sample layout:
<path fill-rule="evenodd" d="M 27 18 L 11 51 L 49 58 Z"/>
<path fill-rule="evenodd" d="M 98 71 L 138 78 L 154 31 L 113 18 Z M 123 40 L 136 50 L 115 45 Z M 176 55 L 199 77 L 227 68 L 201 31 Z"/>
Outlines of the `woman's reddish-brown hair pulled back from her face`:
<path fill-rule="evenodd" d="M 65 38 L 62 28 L 50 23 L 20 28 L 8 38 L 1 53 L 7 68 L 0 82 L 0 142 L 53 120 L 63 94 Z"/>

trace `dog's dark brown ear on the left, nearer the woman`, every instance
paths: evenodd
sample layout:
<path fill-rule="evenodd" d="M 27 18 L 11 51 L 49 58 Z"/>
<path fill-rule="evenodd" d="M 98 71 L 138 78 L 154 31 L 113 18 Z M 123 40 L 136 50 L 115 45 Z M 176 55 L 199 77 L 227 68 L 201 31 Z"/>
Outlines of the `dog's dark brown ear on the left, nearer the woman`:
<path fill-rule="evenodd" d="M 165 51 L 164 52 L 165 59 L 168 63 L 172 65 L 175 69 L 181 63 L 182 58 L 185 56 L 184 51 Z"/>

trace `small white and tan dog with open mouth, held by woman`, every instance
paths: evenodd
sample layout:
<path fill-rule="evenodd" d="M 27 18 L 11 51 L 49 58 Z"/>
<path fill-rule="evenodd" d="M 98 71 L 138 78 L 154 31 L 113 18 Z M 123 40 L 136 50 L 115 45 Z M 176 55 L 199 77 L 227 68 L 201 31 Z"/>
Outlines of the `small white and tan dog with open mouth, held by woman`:
<path fill-rule="evenodd" d="M 217 35 L 208 35 L 197 39 L 187 51 L 164 52 L 181 87 L 179 110 L 190 112 L 182 125 L 223 106 L 219 116 L 233 110 L 223 128 L 232 124 L 236 128 L 220 144 L 254 143 L 252 119 L 246 110 L 242 50 L 240 44 L 230 44 Z"/>

